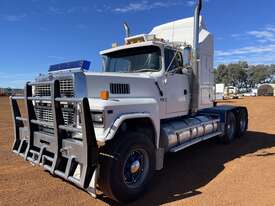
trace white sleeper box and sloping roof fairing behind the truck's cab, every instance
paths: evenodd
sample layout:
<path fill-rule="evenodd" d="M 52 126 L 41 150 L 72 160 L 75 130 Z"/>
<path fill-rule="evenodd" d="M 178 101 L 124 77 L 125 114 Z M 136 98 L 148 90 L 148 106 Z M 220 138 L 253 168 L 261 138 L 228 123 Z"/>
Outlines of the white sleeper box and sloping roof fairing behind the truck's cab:
<path fill-rule="evenodd" d="M 194 17 L 180 19 L 153 28 L 150 34 L 176 44 L 193 45 Z M 211 107 L 214 100 L 213 35 L 200 17 L 199 26 L 199 109 Z"/>

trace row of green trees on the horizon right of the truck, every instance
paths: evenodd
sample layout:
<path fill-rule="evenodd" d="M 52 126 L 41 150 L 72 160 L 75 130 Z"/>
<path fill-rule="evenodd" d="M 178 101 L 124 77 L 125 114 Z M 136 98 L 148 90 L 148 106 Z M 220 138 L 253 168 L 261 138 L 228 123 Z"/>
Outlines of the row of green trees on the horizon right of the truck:
<path fill-rule="evenodd" d="M 220 64 L 214 69 L 215 83 L 251 89 L 258 84 L 275 83 L 275 64 L 249 65 L 245 61 Z"/>

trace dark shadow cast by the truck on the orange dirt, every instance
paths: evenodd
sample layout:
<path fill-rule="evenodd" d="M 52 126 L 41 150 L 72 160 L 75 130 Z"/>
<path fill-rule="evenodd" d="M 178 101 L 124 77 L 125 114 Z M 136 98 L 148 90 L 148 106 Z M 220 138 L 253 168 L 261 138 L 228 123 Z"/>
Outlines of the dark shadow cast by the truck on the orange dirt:
<path fill-rule="evenodd" d="M 222 172 L 225 163 L 249 154 L 261 157 L 275 155 L 266 151 L 253 154 L 271 147 L 275 147 L 275 134 L 249 131 L 230 145 L 209 140 L 181 152 L 168 154 L 164 169 L 155 173 L 144 196 L 130 205 L 160 205 L 199 195 L 201 192 L 198 188 L 207 185 Z M 109 198 L 99 199 L 117 205 Z"/>

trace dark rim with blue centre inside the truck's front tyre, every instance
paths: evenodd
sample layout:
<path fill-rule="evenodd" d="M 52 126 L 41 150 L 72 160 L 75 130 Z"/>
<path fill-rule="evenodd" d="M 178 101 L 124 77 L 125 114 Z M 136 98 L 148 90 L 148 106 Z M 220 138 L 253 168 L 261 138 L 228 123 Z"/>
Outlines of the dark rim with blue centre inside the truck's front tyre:
<path fill-rule="evenodd" d="M 131 150 L 123 166 L 123 179 L 131 188 L 139 187 L 145 180 L 149 168 L 148 154 L 143 149 Z"/>

